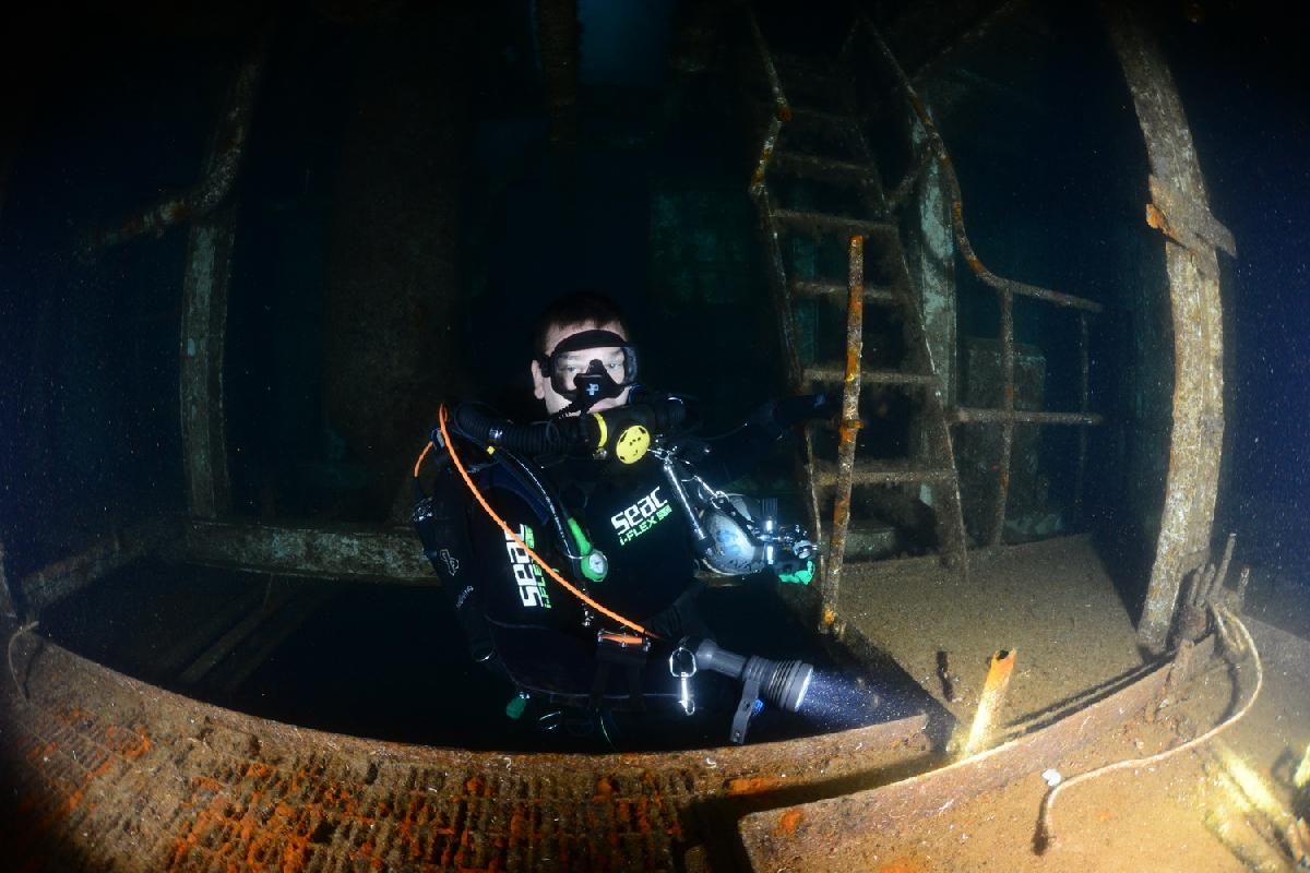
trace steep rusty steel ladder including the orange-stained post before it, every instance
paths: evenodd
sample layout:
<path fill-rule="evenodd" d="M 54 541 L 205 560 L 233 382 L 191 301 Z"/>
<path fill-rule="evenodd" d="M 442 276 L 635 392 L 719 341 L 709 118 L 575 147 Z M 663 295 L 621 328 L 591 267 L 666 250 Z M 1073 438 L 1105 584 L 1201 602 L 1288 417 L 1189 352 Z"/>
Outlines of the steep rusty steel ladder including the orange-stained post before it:
<path fill-rule="evenodd" d="M 807 514 L 811 529 L 827 544 L 821 563 L 823 618 L 827 630 L 838 630 L 837 597 L 842 568 L 855 559 L 848 555 L 852 524 L 852 492 L 855 486 L 930 486 L 934 496 L 937 538 L 942 558 L 960 573 L 968 572 L 967 541 L 960 504 L 959 474 L 951 446 L 950 424 L 942 381 L 934 366 L 924 327 L 922 313 L 916 301 L 913 284 L 895 221 L 895 204 L 914 185 L 907 178 L 888 196 L 882 186 L 872 149 L 863 136 L 858 116 L 853 113 L 825 111 L 794 106 L 783 90 L 782 77 L 755 16 L 749 16 L 752 41 L 772 93 L 770 119 L 760 149 L 758 162 L 751 179 L 751 194 L 756 200 L 765 245 L 770 262 L 770 284 L 778 312 L 782 346 L 787 357 L 793 385 L 798 390 L 841 389 L 842 414 L 838 428 L 836 457 L 820 457 L 815 431 L 804 433 L 804 467 L 802 478 L 808 491 Z M 854 34 L 854 31 L 852 31 Z M 846 47 L 849 47 L 848 39 Z M 846 51 L 842 48 L 842 52 Z M 798 75 L 811 75 L 800 73 Z M 814 79 L 821 79 L 817 76 Z M 849 101 L 845 101 L 849 109 Z M 779 145 L 783 132 L 796 124 L 817 124 L 845 139 L 852 145 L 855 160 L 836 160 L 803 148 Z M 910 175 L 922 170 L 921 162 Z M 863 209 L 871 217 L 850 217 L 811 209 L 790 209 L 774 199 L 769 181 L 779 177 L 817 178 L 850 187 L 858 187 Z M 841 234 L 846 242 L 848 275 L 845 284 L 837 280 L 795 279 L 789 276 L 779 234 L 804 230 L 811 234 Z M 865 260 L 878 258 L 887 276 L 886 284 L 865 284 Z M 846 343 L 844 363 L 807 361 L 798 336 L 796 302 L 803 298 L 827 301 L 846 309 Z M 874 369 L 863 364 L 863 313 L 866 306 L 887 306 L 901 317 L 905 360 L 897 369 Z M 817 356 L 815 356 L 817 357 Z M 870 459 L 859 457 L 857 435 L 861 428 L 859 399 L 862 391 L 900 386 L 921 398 L 918 406 L 922 423 L 921 457 L 900 459 Z M 824 518 L 824 497 L 832 495 L 831 521 Z M 825 524 L 827 521 L 827 524 Z"/>

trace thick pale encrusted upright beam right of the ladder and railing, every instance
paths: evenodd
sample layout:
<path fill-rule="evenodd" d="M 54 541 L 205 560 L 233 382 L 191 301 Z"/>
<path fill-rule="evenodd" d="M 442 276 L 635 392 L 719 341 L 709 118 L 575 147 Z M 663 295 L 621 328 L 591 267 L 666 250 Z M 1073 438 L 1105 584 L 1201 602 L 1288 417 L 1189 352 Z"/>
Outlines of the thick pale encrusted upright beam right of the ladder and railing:
<path fill-rule="evenodd" d="M 1154 38 L 1128 5 L 1107 4 L 1151 169 L 1148 224 L 1166 236 L 1165 260 L 1174 322 L 1174 411 L 1159 539 L 1138 636 L 1149 650 L 1166 644 L 1187 555 L 1209 547 L 1224 452 L 1224 318 L 1216 246 L 1235 251 L 1210 215 L 1192 132 Z"/>

